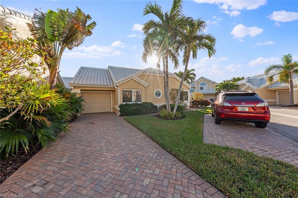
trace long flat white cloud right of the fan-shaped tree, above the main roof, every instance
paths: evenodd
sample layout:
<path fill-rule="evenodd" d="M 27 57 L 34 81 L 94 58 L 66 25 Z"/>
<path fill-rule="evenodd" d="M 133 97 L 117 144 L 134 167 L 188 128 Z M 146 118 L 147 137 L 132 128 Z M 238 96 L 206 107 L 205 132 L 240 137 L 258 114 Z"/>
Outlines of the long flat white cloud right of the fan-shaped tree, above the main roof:
<path fill-rule="evenodd" d="M 81 46 L 76 48 L 75 50 L 82 50 L 80 51 L 70 51 L 70 52 L 64 52 L 63 58 L 103 58 L 106 56 L 118 56 L 120 54 L 124 54 L 123 52 L 119 50 L 114 50 L 114 48 L 110 46 L 99 46 L 99 45 L 91 45 L 91 46 Z"/>

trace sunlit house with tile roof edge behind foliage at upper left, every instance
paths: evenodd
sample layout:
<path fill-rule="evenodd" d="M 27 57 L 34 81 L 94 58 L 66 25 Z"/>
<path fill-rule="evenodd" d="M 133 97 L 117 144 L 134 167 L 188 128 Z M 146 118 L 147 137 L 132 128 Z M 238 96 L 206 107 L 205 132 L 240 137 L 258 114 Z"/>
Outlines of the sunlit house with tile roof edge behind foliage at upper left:
<path fill-rule="evenodd" d="M 11 29 L 16 29 L 15 35 L 21 39 L 26 39 L 28 37 L 32 38 L 31 32 L 29 30 L 30 26 L 32 26 L 31 16 L 0 5 L 0 27 L 4 29 L 4 26 L 10 27 Z M 36 55 L 31 60 L 34 62 L 40 62 L 41 57 Z M 45 74 L 43 74 L 41 77 L 48 81 L 49 70 L 46 70 Z M 58 83 L 62 84 L 60 75 L 58 75 L 57 81 Z"/>

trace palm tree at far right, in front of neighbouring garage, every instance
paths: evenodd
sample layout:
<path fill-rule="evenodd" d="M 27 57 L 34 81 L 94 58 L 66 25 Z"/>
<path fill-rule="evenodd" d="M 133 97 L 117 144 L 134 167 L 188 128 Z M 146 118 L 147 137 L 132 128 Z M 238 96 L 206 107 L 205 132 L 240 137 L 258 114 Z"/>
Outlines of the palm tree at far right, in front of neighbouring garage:
<path fill-rule="evenodd" d="M 293 94 L 293 74 L 298 75 L 298 62 L 293 62 L 293 56 L 291 54 L 283 55 L 281 58 L 283 64 L 269 65 L 264 73 L 269 75 L 270 72 L 278 71 L 278 73 L 268 76 L 267 81 L 272 83 L 273 76 L 279 75 L 279 81 L 281 83 L 288 83 L 290 86 L 290 105 L 294 105 Z"/>

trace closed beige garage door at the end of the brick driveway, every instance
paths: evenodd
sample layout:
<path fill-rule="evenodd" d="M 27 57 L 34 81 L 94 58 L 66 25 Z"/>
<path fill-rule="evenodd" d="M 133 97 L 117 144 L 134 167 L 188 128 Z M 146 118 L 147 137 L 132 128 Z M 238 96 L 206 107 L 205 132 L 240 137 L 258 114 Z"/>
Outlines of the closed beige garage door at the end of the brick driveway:
<path fill-rule="evenodd" d="M 84 113 L 99 113 L 111 111 L 110 93 L 83 93 L 85 99 Z"/>

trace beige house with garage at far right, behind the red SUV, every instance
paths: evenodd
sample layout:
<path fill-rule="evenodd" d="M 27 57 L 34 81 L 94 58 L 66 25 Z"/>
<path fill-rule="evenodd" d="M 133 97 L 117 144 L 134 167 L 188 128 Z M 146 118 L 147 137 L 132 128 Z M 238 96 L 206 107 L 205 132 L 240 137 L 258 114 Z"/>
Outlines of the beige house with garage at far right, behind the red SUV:
<path fill-rule="evenodd" d="M 290 89 L 289 84 L 280 83 L 278 75 L 274 76 L 272 83 L 267 82 L 267 77 L 278 72 L 272 72 L 269 75 L 260 74 L 245 78 L 237 82 L 238 90 L 256 92 L 269 105 L 289 105 Z M 293 75 L 294 84 L 294 104 L 298 103 L 298 76 Z"/>

